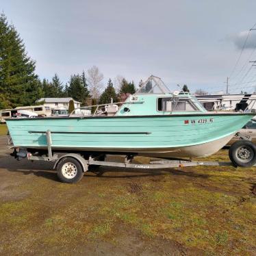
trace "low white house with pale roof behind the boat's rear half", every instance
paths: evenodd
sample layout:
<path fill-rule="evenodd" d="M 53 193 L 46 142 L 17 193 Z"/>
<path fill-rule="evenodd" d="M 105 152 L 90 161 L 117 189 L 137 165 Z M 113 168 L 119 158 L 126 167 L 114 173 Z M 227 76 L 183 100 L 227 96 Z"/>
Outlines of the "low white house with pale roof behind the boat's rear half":
<path fill-rule="evenodd" d="M 68 98 L 41 98 L 38 99 L 37 102 L 44 102 L 43 105 L 47 107 L 51 107 L 51 110 L 68 110 L 69 101 L 71 101 L 71 97 Z M 74 101 L 75 109 L 79 108 L 81 102 Z"/>

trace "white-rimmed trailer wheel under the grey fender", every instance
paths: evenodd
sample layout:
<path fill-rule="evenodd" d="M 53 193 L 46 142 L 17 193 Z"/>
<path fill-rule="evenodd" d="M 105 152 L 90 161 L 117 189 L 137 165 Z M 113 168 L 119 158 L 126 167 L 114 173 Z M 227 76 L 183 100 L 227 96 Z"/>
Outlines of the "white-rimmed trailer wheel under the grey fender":
<path fill-rule="evenodd" d="M 77 183 L 83 176 L 81 164 L 73 157 L 64 157 L 57 164 L 57 177 L 62 182 Z"/>

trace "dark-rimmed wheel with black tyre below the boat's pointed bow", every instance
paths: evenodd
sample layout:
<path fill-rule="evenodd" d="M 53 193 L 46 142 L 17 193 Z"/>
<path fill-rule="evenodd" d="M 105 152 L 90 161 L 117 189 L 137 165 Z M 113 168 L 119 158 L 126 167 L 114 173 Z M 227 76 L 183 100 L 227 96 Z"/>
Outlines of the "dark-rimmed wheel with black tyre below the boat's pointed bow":
<path fill-rule="evenodd" d="M 234 166 L 250 167 L 256 164 L 256 146 L 248 140 L 239 140 L 231 145 L 229 159 Z"/>

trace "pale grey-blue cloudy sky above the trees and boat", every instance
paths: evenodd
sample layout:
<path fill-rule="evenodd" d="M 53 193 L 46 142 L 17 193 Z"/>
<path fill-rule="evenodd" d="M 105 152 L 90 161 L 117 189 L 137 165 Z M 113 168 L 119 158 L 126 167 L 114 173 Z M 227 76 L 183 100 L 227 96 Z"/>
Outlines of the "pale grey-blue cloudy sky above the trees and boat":
<path fill-rule="evenodd" d="M 0 9 L 41 78 L 66 82 L 96 65 L 105 81 L 153 74 L 172 90 L 223 90 L 231 75 L 233 92 L 250 91 L 256 80 L 247 63 L 256 60 L 255 0 L 1 0 Z"/>

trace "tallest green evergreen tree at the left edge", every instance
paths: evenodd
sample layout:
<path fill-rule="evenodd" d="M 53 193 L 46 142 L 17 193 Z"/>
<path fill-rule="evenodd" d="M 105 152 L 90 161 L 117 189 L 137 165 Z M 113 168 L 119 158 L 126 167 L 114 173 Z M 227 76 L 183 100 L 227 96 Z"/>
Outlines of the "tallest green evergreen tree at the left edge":
<path fill-rule="evenodd" d="M 5 14 L 0 15 L 0 94 L 10 107 L 34 104 L 43 96 L 34 73 L 36 62 L 27 56 L 25 45 Z"/>

